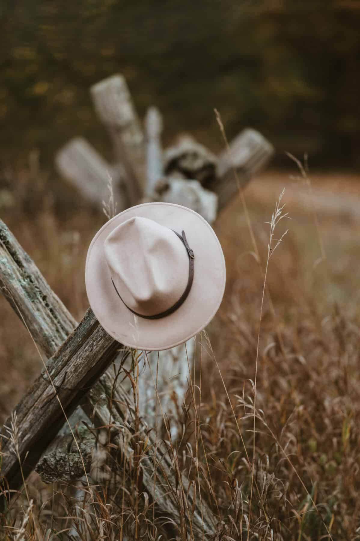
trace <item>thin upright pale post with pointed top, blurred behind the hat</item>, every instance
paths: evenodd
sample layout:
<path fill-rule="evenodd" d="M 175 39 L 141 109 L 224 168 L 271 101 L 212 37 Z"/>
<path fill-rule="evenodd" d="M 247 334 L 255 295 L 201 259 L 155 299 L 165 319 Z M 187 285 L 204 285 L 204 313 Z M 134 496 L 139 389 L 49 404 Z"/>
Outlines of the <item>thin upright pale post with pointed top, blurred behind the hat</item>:
<path fill-rule="evenodd" d="M 149 107 L 145 116 L 146 187 L 145 196 L 154 194 L 155 184 L 163 176 L 161 148 L 162 116 L 156 107 Z"/>

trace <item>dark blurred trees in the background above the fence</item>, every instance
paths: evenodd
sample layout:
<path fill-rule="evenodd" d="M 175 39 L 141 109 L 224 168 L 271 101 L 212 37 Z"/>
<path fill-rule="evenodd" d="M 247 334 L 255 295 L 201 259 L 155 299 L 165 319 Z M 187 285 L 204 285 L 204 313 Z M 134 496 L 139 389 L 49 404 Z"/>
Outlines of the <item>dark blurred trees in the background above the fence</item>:
<path fill-rule="evenodd" d="M 89 87 L 121 72 L 167 141 L 221 147 L 216 107 L 229 137 L 252 126 L 313 165 L 359 163 L 356 0 L 2 0 L 0 17 L 3 159 L 49 163 L 80 134 L 109 155 Z"/>

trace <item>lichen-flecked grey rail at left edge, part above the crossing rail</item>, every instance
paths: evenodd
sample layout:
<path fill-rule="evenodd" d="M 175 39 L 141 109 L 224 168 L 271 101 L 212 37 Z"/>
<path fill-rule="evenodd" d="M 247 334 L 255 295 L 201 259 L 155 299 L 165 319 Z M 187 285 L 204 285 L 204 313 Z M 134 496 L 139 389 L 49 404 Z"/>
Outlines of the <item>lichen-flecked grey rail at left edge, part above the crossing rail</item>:
<path fill-rule="evenodd" d="M 48 357 L 76 327 L 75 319 L 1 220 L 0 289 Z"/>

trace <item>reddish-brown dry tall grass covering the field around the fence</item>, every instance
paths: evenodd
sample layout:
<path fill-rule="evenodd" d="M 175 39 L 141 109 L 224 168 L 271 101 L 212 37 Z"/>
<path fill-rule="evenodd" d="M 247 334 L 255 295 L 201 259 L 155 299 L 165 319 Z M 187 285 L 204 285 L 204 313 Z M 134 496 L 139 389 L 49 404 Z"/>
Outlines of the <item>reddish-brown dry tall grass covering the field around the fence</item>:
<path fill-rule="evenodd" d="M 31 171 L 22 174 L 22 182 L 14 184 L 21 187 L 14 206 L 3 206 L 2 217 L 79 319 L 87 306 L 86 250 L 104 219 L 76 201 L 69 200 L 65 212 L 56 208 L 46 193 L 48 183 L 39 180 L 36 200 L 43 202 L 36 209 L 35 177 Z M 35 176 L 42 179 L 39 172 Z M 236 199 L 215 227 L 228 273 L 224 301 L 208 329 L 211 343 L 205 334 L 198 337 L 201 348 L 185 404 L 177 419 L 170 419 L 182 434 L 170 444 L 174 467 L 192 481 L 191 494 L 210 506 L 218 541 L 355 540 L 360 538 L 358 225 L 334 214 L 318 215 L 316 227 L 311 209 L 288 204 L 292 221 L 275 231 L 281 238 L 289 228 L 269 260 L 262 307 L 269 243 L 264 222 L 270 221 L 275 200 L 269 203 L 251 190 L 245 196 L 258 254 Z M 319 260 L 319 235 L 326 261 Z M 3 299 L 0 318 L 4 420 L 41 361 Z M 135 362 L 135 382 L 137 375 Z M 135 388 L 135 405 L 136 400 Z M 166 431 L 158 438 L 169 439 Z M 120 448 L 104 442 L 98 461 L 105 480 L 94 476 L 90 489 L 84 484 L 79 491 L 77 484 L 45 485 L 32 474 L 1 518 L 2 538 L 186 539 L 184 527 L 157 516 L 151 494 L 143 491 L 139 443 L 133 442 L 137 458 L 129 464 Z M 192 509 L 180 497 L 178 504 L 184 523 L 191 523 Z"/>

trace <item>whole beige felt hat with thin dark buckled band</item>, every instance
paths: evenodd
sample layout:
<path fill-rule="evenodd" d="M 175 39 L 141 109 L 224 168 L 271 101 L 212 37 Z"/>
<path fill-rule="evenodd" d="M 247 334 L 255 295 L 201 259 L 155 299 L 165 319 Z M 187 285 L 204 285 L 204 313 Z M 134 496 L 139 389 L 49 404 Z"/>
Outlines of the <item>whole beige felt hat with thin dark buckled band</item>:
<path fill-rule="evenodd" d="M 225 289 L 225 261 L 202 216 L 171 203 L 124 210 L 97 232 L 85 267 L 99 323 L 125 346 L 182 344 L 208 325 Z"/>

